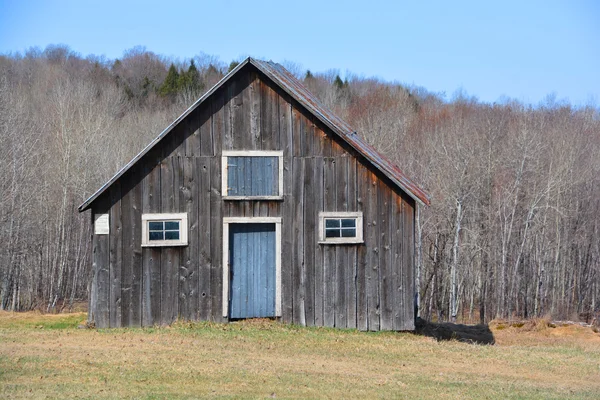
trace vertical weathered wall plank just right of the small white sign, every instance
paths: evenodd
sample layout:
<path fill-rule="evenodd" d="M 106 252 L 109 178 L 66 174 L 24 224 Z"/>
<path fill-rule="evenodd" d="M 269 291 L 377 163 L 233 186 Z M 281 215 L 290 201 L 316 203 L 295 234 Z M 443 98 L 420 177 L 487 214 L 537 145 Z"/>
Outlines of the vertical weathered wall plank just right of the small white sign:
<path fill-rule="evenodd" d="M 110 203 L 110 327 L 121 326 L 121 268 L 123 265 L 122 223 L 121 223 L 121 182 L 117 181 L 109 189 Z"/>

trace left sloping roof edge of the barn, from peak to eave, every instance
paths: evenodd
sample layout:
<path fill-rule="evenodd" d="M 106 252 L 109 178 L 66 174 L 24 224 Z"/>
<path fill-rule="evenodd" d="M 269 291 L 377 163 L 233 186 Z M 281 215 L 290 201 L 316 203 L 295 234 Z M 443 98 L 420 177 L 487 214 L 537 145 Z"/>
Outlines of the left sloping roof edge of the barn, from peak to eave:
<path fill-rule="evenodd" d="M 108 182 L 102 185 L 98 190 L 94 192 L 86 201 L 81 203 L 81 205 L 77 208 L 79 212 L 84 212 L 87 210 L 90 205 L 96 200 L 109 186 L 111 186 L 117 179 L 119 179 L 125 172 L 129 170 L 136 162 L 138 162 L 146 153 L 150 151 L 158 142 L 160 142 L 165 136 L 169 134 L 173 130 L 173 128 L 179 124 L 185 117 L 187 117 L 192 111 L 194 111 L 200 104 L 204 102 L 210 95 L 216 92 L 225 82 L 227 82 L 233 75 L 235 75 L 240 69 L 242 69 L 246 64 L 251 61 L 251 58 L 248 57 L 241 63 L 239 63 L 234 69 L 232 69 L 229 73 L 227 73 L 223 78 L 219 80 L 212 88 L 210 88 L 206 93 L 204 93 L 198 100 L 196 100 L 191 106 L 189 106 L 179 117 L 177 117 L 173 122 L 169 124 L 157 137 L 152 139 L 150 143 L 146 147 L 142 149 L 135 157 L 131 159 L 123 168 L 121 168 L 115 175 L 113 175 Z"/>

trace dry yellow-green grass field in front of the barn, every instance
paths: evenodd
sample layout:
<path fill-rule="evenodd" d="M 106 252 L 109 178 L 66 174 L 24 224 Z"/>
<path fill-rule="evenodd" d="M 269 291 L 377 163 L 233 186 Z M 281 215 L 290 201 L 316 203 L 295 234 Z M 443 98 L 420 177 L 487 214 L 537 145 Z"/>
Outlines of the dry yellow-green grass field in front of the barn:
<path fill-rule="evenodd" d="M 271 321 L 77 329 L 0 312 L 1 398 L 600 398 L 600 334 L 492 325 L 494 346 Z"/>

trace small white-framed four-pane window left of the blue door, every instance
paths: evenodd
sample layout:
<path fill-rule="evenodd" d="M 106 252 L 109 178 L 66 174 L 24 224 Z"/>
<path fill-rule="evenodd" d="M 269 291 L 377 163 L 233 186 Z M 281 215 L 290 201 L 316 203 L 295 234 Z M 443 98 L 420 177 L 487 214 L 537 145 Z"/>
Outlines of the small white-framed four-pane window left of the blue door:
<path fill-rule="evenodd" d="M 142 214 L 142 247 L 187 246 L 187 213 Z"/>

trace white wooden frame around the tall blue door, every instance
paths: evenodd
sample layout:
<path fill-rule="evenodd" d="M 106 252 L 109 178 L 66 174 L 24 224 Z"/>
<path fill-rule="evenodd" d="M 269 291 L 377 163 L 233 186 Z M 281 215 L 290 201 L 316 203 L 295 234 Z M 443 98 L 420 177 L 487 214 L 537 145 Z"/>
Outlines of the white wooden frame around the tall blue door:
<path fill-rule="evenodd" d="M 281 317 L 281 217 L 223 217 L 223 317 L 229 317 L 229 224 L 275 224 L 275 316 Z"/>

